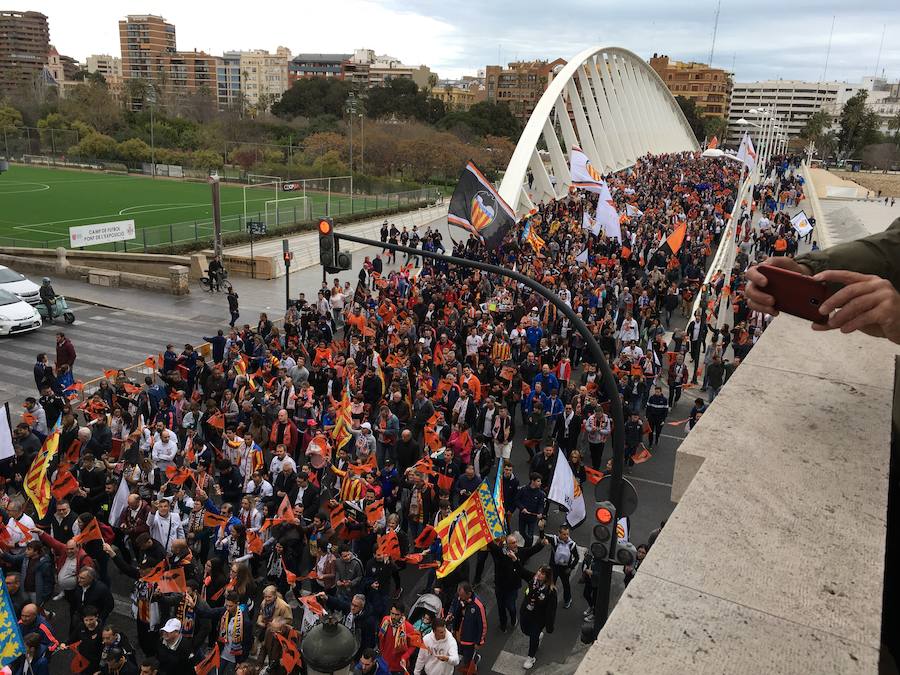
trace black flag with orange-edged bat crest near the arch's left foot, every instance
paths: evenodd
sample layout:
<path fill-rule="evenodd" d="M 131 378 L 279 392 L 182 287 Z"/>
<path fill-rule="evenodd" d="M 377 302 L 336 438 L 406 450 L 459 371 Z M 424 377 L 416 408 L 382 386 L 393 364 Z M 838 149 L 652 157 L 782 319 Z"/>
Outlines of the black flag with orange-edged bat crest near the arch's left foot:
<path fill-rule="evenodd" d="M 450 199 L 447 221 L 463 227 L 495 249 L 516 224 L 516 214 L 474 162 L 466 164 Z"/>

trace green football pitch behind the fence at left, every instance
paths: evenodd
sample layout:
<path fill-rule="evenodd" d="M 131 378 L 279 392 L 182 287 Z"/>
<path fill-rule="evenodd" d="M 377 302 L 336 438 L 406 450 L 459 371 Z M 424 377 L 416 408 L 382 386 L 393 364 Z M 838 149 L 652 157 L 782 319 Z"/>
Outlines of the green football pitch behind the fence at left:
<path fill-rule="evenodd" d="M 337 216 L 351 212 L 350 197 L 335 187 L 327 192 L 277 193 L 276 187 L 246 190 L 247 215 L 279 225 L 316 218 L 326 212 Z M 243 229 L 245 190 L 223 183 L 220 204 L 223 231 Z M 269 202 L 267 214 L 266 203 Z M 354 198 L 352 210 L 385 208 L 390 198 Z M 330 210 L 329 210 L 330 209 Z M 138 230 L 135 248 L 206 240 L 212 233 L 210 188 L 204 182 L 128 176 L 91 171 L 10 165 L 0 174 L 0 243 L 12 246 L 68 246 L 69 227 L 119 220 L 134 220 Z M 142 230 L 145 230 L 142 232 Z M 121 247 L 121 244 L 119 245 Z"/>

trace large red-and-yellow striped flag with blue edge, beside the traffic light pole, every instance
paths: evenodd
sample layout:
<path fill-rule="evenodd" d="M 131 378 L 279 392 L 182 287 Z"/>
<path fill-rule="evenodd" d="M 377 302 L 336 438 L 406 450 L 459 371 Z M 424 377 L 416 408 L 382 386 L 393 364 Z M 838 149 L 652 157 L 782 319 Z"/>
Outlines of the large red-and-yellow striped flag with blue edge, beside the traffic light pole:
<path fill-rule="evenodd" d="M 437 525 L 443 548 L 438 578 L 450 574 L 469 556 L 504 534 L 503 523 L 487 481 L 482 481 L 458 509 Z"/>

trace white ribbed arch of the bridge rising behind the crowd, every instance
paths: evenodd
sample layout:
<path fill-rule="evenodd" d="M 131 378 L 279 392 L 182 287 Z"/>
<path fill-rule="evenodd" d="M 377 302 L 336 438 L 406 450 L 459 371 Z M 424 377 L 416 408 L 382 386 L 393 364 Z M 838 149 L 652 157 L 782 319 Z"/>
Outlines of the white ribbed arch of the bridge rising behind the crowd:
<path fill-rule="evenodd" d="M 648 152 L 699 149 L 656 71 L 619 47 L 584 50 L 556 74 L 538 101 L 499 188 L 517 215 L 567 193 L 572 146 L 604 172 L 631 166 Z"/>

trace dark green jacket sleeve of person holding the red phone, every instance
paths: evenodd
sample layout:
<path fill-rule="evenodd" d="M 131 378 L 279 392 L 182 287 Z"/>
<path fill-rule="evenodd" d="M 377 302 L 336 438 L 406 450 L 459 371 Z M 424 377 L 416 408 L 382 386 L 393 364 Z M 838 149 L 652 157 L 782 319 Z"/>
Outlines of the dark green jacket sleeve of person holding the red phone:
<path fill-rule="evenodd" d="M 850 270 L 875 274 L 890 281 L 900 291 L 900 218 L 884 231 L 837 246 L 804 253 L 797 262 L 813 274 L 824 270 Z"/>

